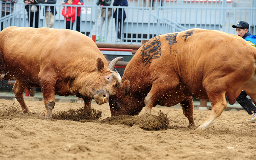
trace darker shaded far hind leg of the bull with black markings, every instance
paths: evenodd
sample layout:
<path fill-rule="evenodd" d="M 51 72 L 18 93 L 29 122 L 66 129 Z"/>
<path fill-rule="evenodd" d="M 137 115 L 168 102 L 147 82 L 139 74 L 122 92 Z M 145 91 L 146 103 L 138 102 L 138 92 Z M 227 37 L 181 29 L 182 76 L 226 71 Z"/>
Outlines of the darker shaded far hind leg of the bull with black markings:
<path fill-rule="evenodd" d="M 189 127 L 195 126 L 195 122 L 193 119 L 194 105 L 192 97 L 183 100 L 182 102 L 180 102 L 180 105 L 182 107 L 183 114 L 189 120 Z"/>

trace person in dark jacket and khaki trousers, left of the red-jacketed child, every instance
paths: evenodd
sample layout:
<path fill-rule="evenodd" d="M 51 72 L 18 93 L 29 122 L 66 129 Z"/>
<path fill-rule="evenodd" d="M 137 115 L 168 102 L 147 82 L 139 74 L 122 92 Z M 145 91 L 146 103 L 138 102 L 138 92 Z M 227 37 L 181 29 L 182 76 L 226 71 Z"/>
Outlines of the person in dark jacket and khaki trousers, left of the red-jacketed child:
<path fill-rule="evenodd" d="M 41 1 L 41 3 L 56 4 L 56 0 L 43 0 L 43 1 Z M 55 6 L 45 6 L 46 27 L 52 28 L 54 21 L 55 21 L 56 14 L 57 14 L 57 11 L 55 9 Z"/>

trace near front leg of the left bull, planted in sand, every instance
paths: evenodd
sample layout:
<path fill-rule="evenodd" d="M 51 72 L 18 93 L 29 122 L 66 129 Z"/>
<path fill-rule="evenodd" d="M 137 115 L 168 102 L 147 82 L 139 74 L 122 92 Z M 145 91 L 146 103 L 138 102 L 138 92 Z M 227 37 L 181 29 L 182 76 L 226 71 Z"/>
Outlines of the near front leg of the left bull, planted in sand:
<path fill-rule="evenodd" d="M 52 120 L 52 109 L 55 106 L 55 78 L 47 77 L 40 77 L 40 85 L 41 90 L 44 98 L 44 106 L 46 109 L 46 114 L 44 120 Z"/>

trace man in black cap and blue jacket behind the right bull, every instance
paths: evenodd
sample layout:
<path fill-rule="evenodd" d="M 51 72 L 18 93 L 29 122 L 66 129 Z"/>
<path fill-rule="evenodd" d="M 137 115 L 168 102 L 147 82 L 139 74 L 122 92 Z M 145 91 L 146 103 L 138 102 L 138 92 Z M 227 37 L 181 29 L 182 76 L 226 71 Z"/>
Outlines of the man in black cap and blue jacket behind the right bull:
<path fill-rule="evenodd" d="M 249 37 L 252 35 L 249 31 L 249 24 L 245 21 L 240 21 L 237 25 L 233 25 L 233 28 L 236 28 L 236 34 L 239 37 L 244 38 L 247 42 L 256 49 L 255 45 L 250 41 Z M 236 101 L 243 107 L 248 114 L 253 114 L 253 118 L 249 120 L 249 123 L 256 122 L 256 107 L 253 103 L 248 100 L 247 93 L 245 91 L 241 91 L 240 95 L 236 98 Z"/>

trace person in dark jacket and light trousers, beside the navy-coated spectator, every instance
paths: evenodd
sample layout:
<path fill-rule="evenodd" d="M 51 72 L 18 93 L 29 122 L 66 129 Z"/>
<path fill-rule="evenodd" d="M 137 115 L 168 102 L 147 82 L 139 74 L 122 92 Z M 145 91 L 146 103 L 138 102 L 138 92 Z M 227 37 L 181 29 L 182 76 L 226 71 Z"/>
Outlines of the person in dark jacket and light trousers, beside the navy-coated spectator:
<path fill-rule="evenodd" d="M 111 0 L 97 0 L 96 2 L 97 6 L 110 6 L 111 5 Z M 106 8 L 102 7 L 102 12 L 101 12 L 101 17 L 99 20 L 99 34 L 96 38 L 96 41 L 105 41 L 105 37 L 102 38 L 102 26 L 105 22 L 106 16 L 108 18 L 108 23 L 107 23 L 107 33 L 105 33 L 106 37 L 108 37 L 108 26 L 109 26 L 109 22 L 111 19 L 111 14 L 112 14 L 112 9 L 108 8 L 108 14 L 106 15 Z"/>

